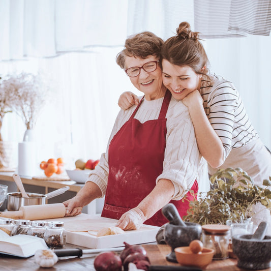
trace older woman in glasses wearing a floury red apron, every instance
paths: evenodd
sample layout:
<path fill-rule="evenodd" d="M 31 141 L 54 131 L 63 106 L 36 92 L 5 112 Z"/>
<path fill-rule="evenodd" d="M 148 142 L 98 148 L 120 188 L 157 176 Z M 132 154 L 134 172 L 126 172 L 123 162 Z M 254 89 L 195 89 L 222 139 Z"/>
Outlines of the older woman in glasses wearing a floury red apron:
<path fill-rule="evenodd" d="M 198 190 L 201 156 L 187 107 L 162 83 L 162 45 L 162 39 L 143 32 L 128 38 L 117 55 L 117 64 L 144 96 L 119 112 L 100 164 L 79 193 L 64 202 L 67 216 L 104 195 L 102 216 L 119 219 L 117 226 L 125 230 L 142 223 L 163 225 L 167 220 L 160 209 L 169 201 L 180 216 L 187 213 L 188 200 L 195 197 L 188 189 Z"/>

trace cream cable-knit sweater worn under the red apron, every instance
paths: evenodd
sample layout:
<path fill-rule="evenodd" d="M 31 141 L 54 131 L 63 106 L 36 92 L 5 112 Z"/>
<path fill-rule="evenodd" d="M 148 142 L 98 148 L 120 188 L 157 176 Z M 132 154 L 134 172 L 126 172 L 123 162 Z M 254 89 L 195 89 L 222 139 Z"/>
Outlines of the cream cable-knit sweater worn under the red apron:
<path fill-rule="evenodd" d="M 157 119 L 162 103 L 163 98 L 153 101 L 144 99 L 135 114 L 135 118 L 141 123 L 150 119 Z M 118 130 L 128 121 L 135 108 L 134 105 L 126 111 L 119 111 L 109 143 Z M 188 108 L 182 101 L 177 101 L 171 97 L 166 118 L 167 134 L 163 172 L 157 177 L 156 183 L 162 178 L 171 180 L 175 190 L 173 199 L 179 200 L 184 197 L 198 177 L 198 171 L 201 168 L 201 155 L 197 147 Z M 103 196 L 106 192 L 109 171 L 108 146 L 106 153 L 101 156 L 99 165 L 96 166 L 87 180 L 87 182 L 91 181 L 97 184 Z"/>

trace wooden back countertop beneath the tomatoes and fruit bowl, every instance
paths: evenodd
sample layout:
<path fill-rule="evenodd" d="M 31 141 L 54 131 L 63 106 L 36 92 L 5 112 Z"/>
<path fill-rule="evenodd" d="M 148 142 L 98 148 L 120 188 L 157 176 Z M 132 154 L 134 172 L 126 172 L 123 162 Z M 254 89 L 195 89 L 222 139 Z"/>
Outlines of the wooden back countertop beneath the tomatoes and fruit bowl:
<path fill-rule="evenodd" d="M 6 182 L 13 182 L 12 175 L 14 172 L 0 172 L 0 180 L 4 180 Z M 83 184 L 77 184 L 74 180 L 36 180 L 31 177 L 21 177 L 22 183 L 26 185 L 34 185 L 45 187 L 45 194 L 48 193 L 48 188 L 62 188 L 65 186 L 69 186 L 70 190 L 73 192 L 79 192 L 82 188 Z"/>

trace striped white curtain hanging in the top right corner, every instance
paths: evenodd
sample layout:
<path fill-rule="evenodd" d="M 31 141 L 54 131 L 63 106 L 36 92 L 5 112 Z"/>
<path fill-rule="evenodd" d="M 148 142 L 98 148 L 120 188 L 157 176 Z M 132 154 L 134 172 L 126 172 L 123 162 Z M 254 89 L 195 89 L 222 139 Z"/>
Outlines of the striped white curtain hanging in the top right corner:
<path fill-rule="evenodd" d="M 194 0 L 195 30 L 202 38 L 269 36 L 270 0 Z"/>

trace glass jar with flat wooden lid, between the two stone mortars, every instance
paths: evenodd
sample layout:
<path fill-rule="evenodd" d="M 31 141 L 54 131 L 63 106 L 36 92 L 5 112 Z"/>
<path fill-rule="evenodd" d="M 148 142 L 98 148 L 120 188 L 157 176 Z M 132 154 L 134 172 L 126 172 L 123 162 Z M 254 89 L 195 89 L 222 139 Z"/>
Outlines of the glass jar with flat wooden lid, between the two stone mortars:
<path fill-rule="evenodd" d="M 202 243 L 206 248 L 215 250 L 214 260 L 229 257 L 230 226 L 207 224 L 202 226 Z"/>

